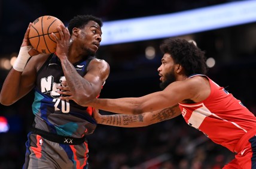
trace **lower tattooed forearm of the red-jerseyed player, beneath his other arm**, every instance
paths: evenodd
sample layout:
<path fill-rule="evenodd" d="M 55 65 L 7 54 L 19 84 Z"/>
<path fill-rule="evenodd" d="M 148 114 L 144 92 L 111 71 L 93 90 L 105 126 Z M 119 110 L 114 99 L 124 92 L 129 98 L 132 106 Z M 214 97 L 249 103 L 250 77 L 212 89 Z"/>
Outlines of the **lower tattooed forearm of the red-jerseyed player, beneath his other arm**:
<path fill-rule="evenodd" d="M 159 123 L 181 114 L 178 104 L 173 107 L 161 109 L 159 111 L 145 112 L 138 115 L 113 114 L 100 115 L 98 109 L 93 112 L 93 117 L 98 124 L 117 127 L 144 127 L 154 123 Z"/>

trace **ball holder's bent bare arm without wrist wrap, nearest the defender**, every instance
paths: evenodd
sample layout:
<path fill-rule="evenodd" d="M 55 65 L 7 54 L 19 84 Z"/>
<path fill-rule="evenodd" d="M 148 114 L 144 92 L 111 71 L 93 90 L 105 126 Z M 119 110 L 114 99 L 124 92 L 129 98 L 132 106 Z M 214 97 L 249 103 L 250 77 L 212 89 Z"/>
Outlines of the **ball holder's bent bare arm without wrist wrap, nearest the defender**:
<path fill-rule="evenodd" d="M 56 52 L 62 64 L 66 83 L 72 95 L 75 96 L 74 101 L 80 105 L 82 105 L 82 103 L 86 104 L 99 95 L 102 85 L 109 75 L 109 64 L 104 60 L 94 59 L 90 61 L 86 75 L 81 77 L 80 74 L 77 73 L 77 70 L 75 70 L 74 65 L 68 60 L 70 38 L 68 29 L 65 28 L 64 25 L 61 25 L 57 29 L 60 33 L 60 39 L 56 39 Z"/>

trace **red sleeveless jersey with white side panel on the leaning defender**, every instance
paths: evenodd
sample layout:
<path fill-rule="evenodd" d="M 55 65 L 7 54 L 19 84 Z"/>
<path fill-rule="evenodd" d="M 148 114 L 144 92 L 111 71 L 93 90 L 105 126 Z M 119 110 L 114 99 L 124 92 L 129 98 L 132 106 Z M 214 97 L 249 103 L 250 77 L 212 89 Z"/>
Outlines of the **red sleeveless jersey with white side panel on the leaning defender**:
<path fill-rule="evenodd" d="M 194 76 L 204 75 L 196 74 L 189 78 Z M 208 98 L 196 104 L 179 103 L 179 108 L 190 126 L 234 152 L 234 146 L 240 138 L 256 128 L 256 117 L 224 87 L 211 79 L 209 83 L 211 93 Z"/>

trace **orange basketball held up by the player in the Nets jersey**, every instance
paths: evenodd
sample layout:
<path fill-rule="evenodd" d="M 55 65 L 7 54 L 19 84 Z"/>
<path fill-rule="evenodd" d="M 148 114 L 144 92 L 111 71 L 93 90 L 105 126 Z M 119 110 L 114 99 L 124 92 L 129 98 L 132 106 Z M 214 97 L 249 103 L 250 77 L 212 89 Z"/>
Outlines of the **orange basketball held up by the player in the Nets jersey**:
<path fill-rule="evenodd" d="M 33 21 L 29 30 L 29 42 L 31 42 L 33 48 L 43 54 L 56 52 L 57 43 L 51 37 L 51 33 L 59 38 L 57 26 L 60 24 L 63 24 L 62 21 L 50 15 L 44 15 Z"/>

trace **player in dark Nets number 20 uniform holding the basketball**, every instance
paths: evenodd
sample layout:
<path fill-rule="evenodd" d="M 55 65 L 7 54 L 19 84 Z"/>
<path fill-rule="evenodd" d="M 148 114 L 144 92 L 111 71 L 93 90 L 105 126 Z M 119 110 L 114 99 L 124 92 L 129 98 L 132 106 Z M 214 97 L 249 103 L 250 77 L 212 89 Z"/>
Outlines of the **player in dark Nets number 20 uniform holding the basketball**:
<path fill-rule="evenodd" d="M 11 105 L 32 89 L 35 91 L 35 120 L 26 142 L 23 168 L 88 168 L 86 136 L 96 128 L 92 107 L 60 100 L 58 87 L 72 78 L 85 100 L 99 96 L 109 75 L 108 63 L 95 57 L 102 20 L 92 15 L 72 18 L 65 29 L 70 32 L 65 39 L 65 59 L 59 59 L 57 53 L 39 54 L 32 49 L 28 40 L 30 27 L 31 23 L 0 95 L 1 104 Z"/>

